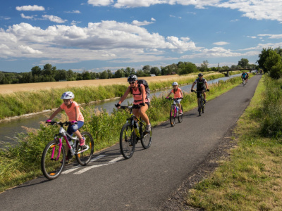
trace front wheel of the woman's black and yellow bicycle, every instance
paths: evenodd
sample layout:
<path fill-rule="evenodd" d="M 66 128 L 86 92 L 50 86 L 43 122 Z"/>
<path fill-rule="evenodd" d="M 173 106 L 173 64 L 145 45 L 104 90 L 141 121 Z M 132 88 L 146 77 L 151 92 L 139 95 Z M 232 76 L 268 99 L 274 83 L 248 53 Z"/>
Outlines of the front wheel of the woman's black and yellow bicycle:
<path fill-rule="evenodd" d="M 129 123 L 123 125 L 121 129 L 119 146 L 121 148 L 121 154 L 125 159 L 131 158 L 135 151 L 135 133 L 133 126 Z"/>

